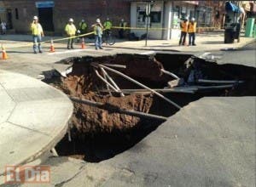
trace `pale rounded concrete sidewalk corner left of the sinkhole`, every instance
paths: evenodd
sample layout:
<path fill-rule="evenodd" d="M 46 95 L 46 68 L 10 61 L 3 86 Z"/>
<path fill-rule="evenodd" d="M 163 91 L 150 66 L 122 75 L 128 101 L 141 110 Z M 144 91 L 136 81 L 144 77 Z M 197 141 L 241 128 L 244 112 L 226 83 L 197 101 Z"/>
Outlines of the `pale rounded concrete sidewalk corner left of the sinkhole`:
<path fill-rule="evenodd" d="M 0 103 L 0 174 L 7 165 L 33 161 L 53 148 L 73 114 L 61 91 L 8 71 L 0 71 Z"/>

